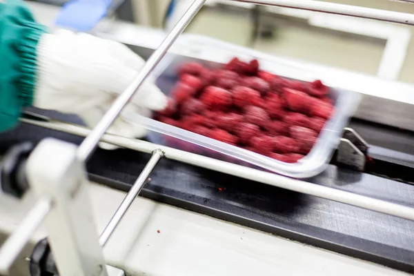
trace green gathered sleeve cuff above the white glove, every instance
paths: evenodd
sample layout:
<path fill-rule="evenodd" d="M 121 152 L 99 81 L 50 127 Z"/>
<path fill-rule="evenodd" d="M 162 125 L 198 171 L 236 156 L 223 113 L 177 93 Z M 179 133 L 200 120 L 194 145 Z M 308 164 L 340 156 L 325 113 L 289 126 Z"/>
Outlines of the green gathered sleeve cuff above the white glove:
<path fill-rule="evenodd" d="M 0 132 L 33 101 L 37 43 L 46 29 L 21 0 L 0 0 Z"/>

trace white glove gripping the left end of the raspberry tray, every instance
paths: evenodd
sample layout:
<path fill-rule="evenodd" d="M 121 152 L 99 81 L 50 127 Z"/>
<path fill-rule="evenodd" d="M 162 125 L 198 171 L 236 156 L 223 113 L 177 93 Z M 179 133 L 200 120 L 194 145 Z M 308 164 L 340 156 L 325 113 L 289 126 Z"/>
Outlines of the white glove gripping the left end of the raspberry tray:
<path fill-rule="evenodd" d="M 123 92 L 144 66 L 144 59 L 121 43 L 90 34 L 59 30 L 43 34 L 37 47 L 37 87 L 34 106 L 79 115 L 93 128 L 111 103 Z M 167 105 L 165 95 L 148 78 L 125 112 L 149 116 L 151 110 Z M 144 137 L 146 130 L 121 117 L 109 133 L 123 137 Z M 103 148 L 116 148 L 100 144 Z"/>

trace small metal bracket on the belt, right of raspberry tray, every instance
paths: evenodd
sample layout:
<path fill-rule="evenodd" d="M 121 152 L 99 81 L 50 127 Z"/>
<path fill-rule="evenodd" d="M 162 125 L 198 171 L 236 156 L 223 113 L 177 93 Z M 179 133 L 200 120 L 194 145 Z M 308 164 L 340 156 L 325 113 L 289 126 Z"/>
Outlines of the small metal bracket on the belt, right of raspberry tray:
<path fill-rule="evenodd" d="M 344 135 L 337 148 L 336 161 L 355 170 L 364 170 L 368 144 L 352 128 L 344 128 Z"/>

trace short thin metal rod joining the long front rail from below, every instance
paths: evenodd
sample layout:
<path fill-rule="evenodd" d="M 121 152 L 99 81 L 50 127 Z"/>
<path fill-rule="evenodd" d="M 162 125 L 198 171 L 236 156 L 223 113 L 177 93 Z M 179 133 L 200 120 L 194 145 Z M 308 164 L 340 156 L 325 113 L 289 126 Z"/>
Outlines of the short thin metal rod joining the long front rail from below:
<path fill-rule="evenodd" d="M 139 192 L 141 192 L 142 187 L 144 187 L 144 184 L 146 183 L 146 179 L 148 179 L 148 176 L 155 168 L 155 165 L 157 165 L 159 159 L 161 159 L 161 157 L 163 156 L 164 152 L 162 152 L 159 149 L 154 150 L 154 152 L 152 152 L 152 157 L 150 161 L 148 161 L 144 170 L 142 170 L 134 185 L 131 187 L 128 194 L 125 196 L 124 200 L 119 205 L 117 211 L 110 219 L 108 225 L 103 230 L 101 237 L 99 237 L 99 244 L 101 244 L 101 246 L 105 246 L 106 242 L 108 242 L 108 239 L 114 232 L 115 228 L 117 228 L 119 221 L 121 221 L 122 217 L 124 217 L 126 211 L 132 204 L 132 201 L 134 201 L 135 197 L 139 195 Z"/>

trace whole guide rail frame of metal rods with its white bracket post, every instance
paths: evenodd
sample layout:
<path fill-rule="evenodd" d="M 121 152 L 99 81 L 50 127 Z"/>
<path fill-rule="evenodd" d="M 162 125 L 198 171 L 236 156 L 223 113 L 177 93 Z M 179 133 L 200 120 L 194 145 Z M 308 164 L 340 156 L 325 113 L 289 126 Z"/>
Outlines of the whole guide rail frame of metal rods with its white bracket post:
<path fill-rule="evenodd" d="M 23 246 L 27 244 L 32 233 L 45 220 L 46 229 L 49 234 L 48 242 L 50 243 L 59 275 L 122 275 L 120 270 L 114 268 L 108 269 L 103 260 L 101 247 L 105 246 L 133 199 L 141 191 L 146 179 L 148 179 L 148 175 L 150 175 L 152 169 L 155 168 L 159 159 L 164 155 L 170 159 L 193 163 L 197 166 L 211 168 L 221 172 L 237 174 L 240 177 L 260 181 L 264 184 L 414 221 L 414 208 L 400 204 L 357 195 L 326 186 L 319 186 L 305 181 L 289 179 L 268 172 L 258 172 L 253 168 L 228 164 L 208 157 L 199 157 L 198 155 L 182 152 L 181 150 L 130 141 L 129 139 L 123 139 L 114 135 L 104 135 L 131 97 L 139 90 L 148 75 L 150 75 L 155 66 L 166 55 L 166 52 L 172 43 L 174 43 L 175 39 L 184 31 L 193 17 L 195 17 L 195 14 L 201 9 L 204 2 L 205 0 L 195 0 L 193 2 L 175 28 L 172 29 L 159 48 L 148 59 L 141 72 L 130 83 L 130 86 L 119 95 L 108 112 L 99 121 L 99 124 L 91 132 L 86 133 L 85 130 L 75 128 L 72 130 L 73 132 L 78 132 L 80 135 L 87 134 L 86 139 L 83 140 L 79 147 L 55 139 L 44 139 L 32 150 L 27 159 L 18 159 L 21 161 L 19 165 L 22 166 L 19 172 L 23 173 L 23 178 L 26 177 L 28 182 L 27 186 L 20 186 L 19 188 L 21 190 L 18 190 L 18 192 L 24 193 L 30 188 L 37 195 L 38 201 L 32 208 L 32 211 L 28 213 L 26 219 L 21 221 L 19 228 L 12 233 L 0 248 L 0 274 L 6 275 L 8 273 L 8 269 L 21 252 Z M 313 10 L 414 25 L 414 14 L 359 8 L 336 3 L 323 3 L 309 0 L 239 2 Z M 95 234 L 95 225 L 88 219 L 91 215 L 91 210 L 85 189 L 85 163 L 94 152 L 99 141 L 106 141 L 134 150 L 152 152 L 152 157 L 98 239 Z M 55 158 L 51 159 L 50 156 L 54 156 Z M 46 171 L 44 168 L 48 168 L 48 170 Z M 16 181 L 19 182 L 18 180 L 23 178 L 17 177 Z M 88 244 L 88 248 L 85 248 L 83 246 L 84 244 Z"/>

